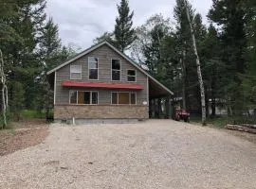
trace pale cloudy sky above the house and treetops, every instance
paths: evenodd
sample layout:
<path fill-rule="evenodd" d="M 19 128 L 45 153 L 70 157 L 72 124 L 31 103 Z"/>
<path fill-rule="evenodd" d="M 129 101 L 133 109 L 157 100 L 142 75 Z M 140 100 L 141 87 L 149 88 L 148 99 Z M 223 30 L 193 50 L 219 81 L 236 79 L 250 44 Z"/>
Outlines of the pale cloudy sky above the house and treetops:
<path fill-rule="evenodd" d="M 120 0 L 47 0 L 46 13 L 59 26 L 62 42 L 82 49 L 93 44 L 105 31 L 113 31 L 118 16 Z M 194 9 L 203 16 L 211 6 L 211 0 L 190 0 Z M 140 26 L 152 15 L 161 13 L 174 20 L 175 0 L 130 0 L 134 10 L 134 26 Z"/>

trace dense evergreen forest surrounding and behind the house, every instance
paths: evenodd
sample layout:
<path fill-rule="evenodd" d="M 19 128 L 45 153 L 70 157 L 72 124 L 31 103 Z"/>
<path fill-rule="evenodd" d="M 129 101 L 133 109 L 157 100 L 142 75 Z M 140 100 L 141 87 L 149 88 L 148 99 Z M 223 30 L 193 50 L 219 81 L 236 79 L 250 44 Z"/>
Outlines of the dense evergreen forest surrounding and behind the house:
<path fill-rule="evenodd" d="M 53 108 L 46 72 L 78 53 L 64 45 L 46 0 L 0 0 L 1 116 L 19 120 L 25 110 Z M 156 3 L 156 2 L 155 2 Z M 128 54 L 174 92 L 174 106 L 202 113 L 192 34 L 200 59 L 207 117 L 220 114 L 244 123 L 256 120 L 256 1 L 213 0 L 207 24 L 187 0 L 176 0 L 174 17 L 161 12 L 134 26 L 134 12 L 120 0 L 113 31 L 92 43 L 108 41 Z M 187 12 L 189 14 L 187 14 Z M 189 15 L 189 19 L 188 19 Z M 190 22 L 192 28 L 190 27 Z"/>

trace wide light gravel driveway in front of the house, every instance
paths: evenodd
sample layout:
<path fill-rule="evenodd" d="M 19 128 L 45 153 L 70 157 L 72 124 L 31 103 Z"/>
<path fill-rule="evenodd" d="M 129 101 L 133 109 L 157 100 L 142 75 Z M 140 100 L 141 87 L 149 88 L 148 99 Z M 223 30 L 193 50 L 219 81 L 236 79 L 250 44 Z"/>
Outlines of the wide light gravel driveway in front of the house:
<path fill-rule="evenodd" d="M 52 125 L 46 141 L 0 157 L 0 188 L 256 188 L 256 146 L 172 120 Z"/>

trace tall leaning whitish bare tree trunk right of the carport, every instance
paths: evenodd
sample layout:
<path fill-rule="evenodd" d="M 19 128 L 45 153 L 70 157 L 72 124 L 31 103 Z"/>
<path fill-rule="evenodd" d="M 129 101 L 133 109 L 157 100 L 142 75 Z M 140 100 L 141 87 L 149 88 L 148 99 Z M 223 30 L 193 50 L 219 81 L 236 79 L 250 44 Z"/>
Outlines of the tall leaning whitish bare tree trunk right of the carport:
<path fill-rule="evenodd" d="M 192 21 L 191 21 L 191 16 L 188 8 L 188 2 L 187 0 L 184 0 L 184 4 L 186 7 L 186 12 L 187 12 L 187 17 L 188 21 L 191 27 L 191 34 L 192 34 L 192 48 L 193 48 L 193 53 L 196 59 L 196 68 L 197 68 L 197 77 L 200 85 L 200 94 L 201 94 L 201 107 L 202 107 L 202 124 L 206 124 L 206 99 L 205 99 L 205 89 L 204 89 L 204 82 L 203 82 L 203 77 L 201 73 L 201 65 L 200 65 L 200 59 L 197 53 L 197 48 L 196 48 L 196 43 L 195 43 L 195 37 L 194 37 L 194 31 L 192 27 Z"/>

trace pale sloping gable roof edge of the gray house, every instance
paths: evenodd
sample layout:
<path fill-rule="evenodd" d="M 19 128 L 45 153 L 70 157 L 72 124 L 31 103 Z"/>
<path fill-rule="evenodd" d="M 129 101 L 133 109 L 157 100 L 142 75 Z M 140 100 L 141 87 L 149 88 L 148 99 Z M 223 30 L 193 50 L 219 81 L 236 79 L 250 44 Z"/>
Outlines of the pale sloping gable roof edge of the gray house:
<path fill-rule="evenodd" d="M 46 74 L 50 75 L 54 72 L 56 72 L 57 70 L 61 69 L 62 67 L 64 67 L 65 65 L 73 62 L 74 60 L 78 60 L 80 58 L 82 58 L 82 56 L 96 50 L 97 48 L 101 47 L 102 45 L 108 45 L 110 48 L 112 48 L 114 51 L 116 51 L 123 59 L 127 60 L 129 63 L 131 63 L 132 65 L 134 65 L 140 72 L 142 72 L 143 74 L 145 74 L 147 77 L 149 77 L 150 79 L 152 79 L 156 84 L 158 84 L 159 86 L 161 86 L 165 91 L 167 91 L 169 94 L 174 94 L 172 91 L 170 91 L 167 87 L 165 87 L 162 83 L 160 83 L 158 80 L 155 79 L 155 77 L 152 77 L 151 75 L 149 75 L 144 69 L 142 69 L 140 66 L 138 66 L 138 64 L 134 61 L 131 60 L 128 56 L 126 56 L 125 54 L 121 53 L 115 46 L 113 46 L 111 43 L 108 43 L 106 41 L 102 42 L 102 43 L 98 43 L 90 48 L 87 48 L 86 50 L 82 51 L 81 53 L 79 53 L 77 56 L 75 56 L 74 58 L 65 61 L 64 63 L 62 63 L 61 65 L 53 68 L 52 70 L 48 71 Z"/>

